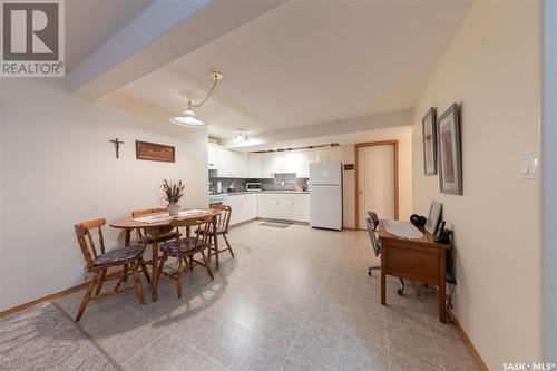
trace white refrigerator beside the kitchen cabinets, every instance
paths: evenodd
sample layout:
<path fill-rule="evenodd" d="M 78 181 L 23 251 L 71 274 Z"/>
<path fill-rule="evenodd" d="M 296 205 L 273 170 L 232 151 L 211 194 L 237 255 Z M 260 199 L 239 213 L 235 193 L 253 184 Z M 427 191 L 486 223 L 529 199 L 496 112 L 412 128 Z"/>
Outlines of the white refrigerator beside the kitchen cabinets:
<path fill-rule="evenodd" d="M 342 164 L 310 164 L 310 226 L 342 230 Z"/>

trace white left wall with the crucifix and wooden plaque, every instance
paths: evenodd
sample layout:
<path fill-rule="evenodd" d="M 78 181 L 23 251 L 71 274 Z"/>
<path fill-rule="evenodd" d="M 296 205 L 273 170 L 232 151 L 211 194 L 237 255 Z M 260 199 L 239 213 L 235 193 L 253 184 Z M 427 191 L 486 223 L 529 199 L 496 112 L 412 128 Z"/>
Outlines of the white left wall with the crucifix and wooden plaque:
<path fill-rule="evenodd" d="M 3 79 L 0 310 L 82 282 L 74 224 L 162 205 L 162 178 L 186 184 L 186 207 L 207 207 L 207 131 L 141 119 L 66 91 L 65 81 Z M 115 158 L 115 137 L 124 140 Z M 176 163 L 137 160 L 135 140 L 176 147 Z M 107 245 L 123 233 L 109 227 Z"/>

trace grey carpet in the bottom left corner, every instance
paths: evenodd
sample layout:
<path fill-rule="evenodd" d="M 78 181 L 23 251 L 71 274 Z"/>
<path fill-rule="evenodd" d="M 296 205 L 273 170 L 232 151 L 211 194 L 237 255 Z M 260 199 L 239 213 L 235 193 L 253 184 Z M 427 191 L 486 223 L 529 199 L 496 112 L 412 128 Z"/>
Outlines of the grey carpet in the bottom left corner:
<path fill-rule="evenodd" d="M 0 370 L 121 370 L 58 304 L 0 319 Z"/>

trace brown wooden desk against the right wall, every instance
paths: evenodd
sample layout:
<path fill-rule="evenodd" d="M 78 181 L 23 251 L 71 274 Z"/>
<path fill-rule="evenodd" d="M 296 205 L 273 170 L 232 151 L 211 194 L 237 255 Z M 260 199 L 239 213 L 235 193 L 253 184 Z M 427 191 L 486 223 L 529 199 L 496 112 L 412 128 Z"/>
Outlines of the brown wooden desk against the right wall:
<path fill-rule="evenodd" d="M 433 236 L 423 228 L 419 228 L 423 237 L 408 240 L 390 234 L 382 222 L 379 223 L 378 232 L 381 241 L 381 304 L 385 301 L 385 276 L 410 281 L 423 282 L 438 286 L 439 321 L 446 321 L 446 255 L 451 248 L 448 244 L 433 241 Z"/>

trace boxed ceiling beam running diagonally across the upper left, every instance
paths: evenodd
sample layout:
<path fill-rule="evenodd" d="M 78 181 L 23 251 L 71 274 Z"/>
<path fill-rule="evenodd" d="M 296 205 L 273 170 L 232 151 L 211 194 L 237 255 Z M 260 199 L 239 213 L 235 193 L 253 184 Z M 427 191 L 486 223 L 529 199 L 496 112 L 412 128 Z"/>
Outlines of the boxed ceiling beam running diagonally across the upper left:
<path fill-rule="evenodd" d="M 97 100 L 283 2 L 155 1 L 69 74 L 70 89 Z"/>

